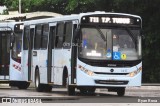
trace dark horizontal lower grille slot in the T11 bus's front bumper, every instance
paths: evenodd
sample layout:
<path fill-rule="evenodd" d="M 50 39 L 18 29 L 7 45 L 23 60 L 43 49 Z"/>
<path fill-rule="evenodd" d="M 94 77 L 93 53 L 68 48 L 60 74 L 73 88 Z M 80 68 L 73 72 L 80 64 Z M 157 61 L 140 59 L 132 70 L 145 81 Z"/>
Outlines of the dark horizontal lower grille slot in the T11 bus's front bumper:
<path fill-rule="evenodd" d="M 110 84 L 110 85 L 127 85 L 128 81 L 115 81 L 115 80 L 95 80 L 96 84 Z"/>

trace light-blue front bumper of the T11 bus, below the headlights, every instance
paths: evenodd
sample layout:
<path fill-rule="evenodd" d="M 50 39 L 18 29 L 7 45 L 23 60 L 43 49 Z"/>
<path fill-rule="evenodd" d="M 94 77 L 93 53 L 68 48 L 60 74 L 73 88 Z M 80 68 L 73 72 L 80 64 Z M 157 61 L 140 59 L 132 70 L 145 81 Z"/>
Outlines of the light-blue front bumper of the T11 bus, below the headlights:
<path fill-rule="evenodd" d="M 88 75 L 83 71 L 77 71 L 77 86 L 96 86 L 96 87 L 127 87 L 141 86 L 141 75 L 139 72 L 134 77 L 121 75 Z"/>

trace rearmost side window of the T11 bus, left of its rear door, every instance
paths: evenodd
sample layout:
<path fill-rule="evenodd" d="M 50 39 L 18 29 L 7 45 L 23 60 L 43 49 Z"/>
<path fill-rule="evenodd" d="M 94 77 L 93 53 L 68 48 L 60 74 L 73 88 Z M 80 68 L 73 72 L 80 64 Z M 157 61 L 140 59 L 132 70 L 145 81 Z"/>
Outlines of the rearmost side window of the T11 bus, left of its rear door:
<path fill-rule="evenodd" d="M 28 50 L 28 37 L 29 36 L 29 26 L 24 28 L 24 37 L 23 37 L 23 50 Z"/>

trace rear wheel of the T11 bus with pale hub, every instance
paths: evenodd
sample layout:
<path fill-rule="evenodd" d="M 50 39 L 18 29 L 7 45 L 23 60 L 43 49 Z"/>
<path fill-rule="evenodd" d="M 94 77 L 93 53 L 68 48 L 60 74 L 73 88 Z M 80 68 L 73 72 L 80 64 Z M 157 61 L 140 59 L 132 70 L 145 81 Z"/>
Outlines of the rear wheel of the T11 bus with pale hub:
<path fill-rule="evenodd" d="M 35 71 L 35 77 L 34 78 L 35 78 L 35 88 L 36 88 L 36 91 L 43 92 L 43 85 L 40 84 L 40 75 L 39 75 L 38 68 Z"/>

